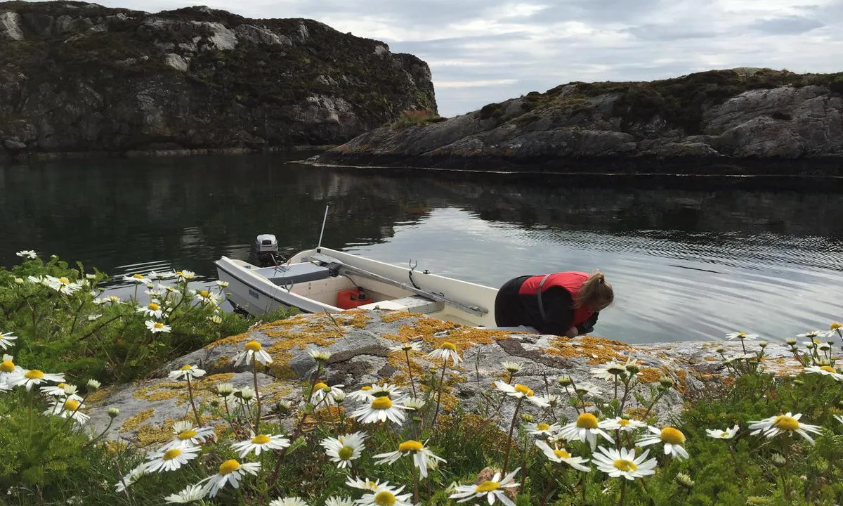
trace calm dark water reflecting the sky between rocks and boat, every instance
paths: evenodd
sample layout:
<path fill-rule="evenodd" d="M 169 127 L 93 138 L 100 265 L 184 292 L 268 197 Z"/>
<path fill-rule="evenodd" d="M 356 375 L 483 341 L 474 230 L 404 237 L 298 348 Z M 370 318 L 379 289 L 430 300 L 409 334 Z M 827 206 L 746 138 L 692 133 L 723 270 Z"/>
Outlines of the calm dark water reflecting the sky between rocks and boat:
<path fill-rule="evenodd" d="M 599 268 L 617 293 L 602 336 L 746 330 L 772 341 L 843 317 L 843 196 L 466 178 L 280 155 L 0 168 L 0 265 L 35 249 L 112 276 L 186 268 L 212 279 L 212 261 L 247 259 L 256 234 L 276 234 L 287 253 L 314 246 L 328 204 L 324 245 L 449 277 L 497 287 Z"/>

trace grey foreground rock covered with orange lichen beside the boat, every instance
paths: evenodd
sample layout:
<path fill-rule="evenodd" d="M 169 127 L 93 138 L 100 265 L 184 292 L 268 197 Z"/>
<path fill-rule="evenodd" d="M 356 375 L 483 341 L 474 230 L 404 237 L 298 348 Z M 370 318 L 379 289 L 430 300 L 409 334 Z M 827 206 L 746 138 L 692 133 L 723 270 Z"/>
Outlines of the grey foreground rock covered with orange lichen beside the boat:
<path fill-rule="evenodd" d="M 441 342 L 453 342 L 463 362 L 448 368 L 448 388 L 443 396 L 443 410 L 448 412 L 458 404 L 483 408 L 484 394 L 491 391 L 495 380 L 506 380 L 503 360 L 521 363 L 522 369 L 514 380 L 528 385 L 537 394 L 561 396 L 561 406 L 556 413 L 564 412 L 573 419 L 576 412 L 567 404 L 565 390 L 557 383 L 561 375 L 568 375 L 577 385 L 591 384 L 602 391 L 604 397 L 612 395 L 609 382 L 595 380 L 590 369 L 599 364 L 627 358 L 636 359 L 641 367 L 636 389 L 645 397 L 647 385 L 658 385 L 662 376 L 674 380 L 671 389 L 654 412 L 667 420 L 680 412 L 682 403 L 712 383 L 725 384 L 728 374 L 715 352 L 717 347 L 727 348 L 728 354 L 740 353 L 739 343 L 733 342 L 681 342 L 629 345 L 593 336 L 580 336 L 569 340 L 556 336 L 539 336 L 528 333 L 511 333 L 493 329 L 455 326 L 424 315 L 387 311 L 348 311 L 334 315 L 335 325 L 326 315 L 297 315 L 257 326 L 250 331 L 214 342 L 196 352 L 189 353 L 152 374 L 153 379 L 132 385 L 113 385 L 97 391 L 89 401 L 90 424 L 97 432 L 109 423 L 107 408 L 118 407 L 120 414 L 112 423 L 107 437 L 124 439 L 132 444 L 147 446 L 164 442 L 172 437 L 171 426 L 178 420 L 192 420 L 186 384 L 169 380 L 167 373 L 182 365 L 198 365 L 205 369 L 205 377 L 193 384 L 196 398 L 207 406 L 215 396 L 214 385 L 233 383 L 235 388 L 253 385 L 249 368 L 234 367 L 234 356 L 251 340 L 260 342 L 270 353 L 273 363 L 261 370 L 258 382 L 262 396 L 264 417 L 281 420 L 289 428 L 293 419 L 278 412 L 277 401 L 291 401 L 293 406 L 302 400 L 302 385 L 310 381 L 316 363 L 309 350 L 320 349 L 331 353 L 320 380 L 328 385 L 345 385 L 346 392 L 362 385 L 384 382 L 411 390 L 404 353 L 390 352 L 400 342 L 408 340 L 421 344 L 421 353 L 411 354 L 416 390 L 422 396 L 424 379 L 428 374 L 438 374 L 441 363 L 425 358 L 425 354 Z M 797 363 L 783 345 L 771 344 L 766 348 L 765 367 L 776 374 L 796 372 Z M 641 406 L 631 398 L 631 412 L 642 412 Z M 230 401 L 229 401 L 230 404 Z M 353 401 L 346 401 L 353 405 Z M 512 417 L 513 403 L 504 402 L 500 416 Z M 345 406 L 346 410 L 352 406 Z M 530 411 L 524 405 L 526 411 Z M 204 411 L 202 423 L 223 428 L 217 411 Z M 538 415 L 539 412 L 534 414 Z M 638 416 L 641 416 L 639 413 Z"/>

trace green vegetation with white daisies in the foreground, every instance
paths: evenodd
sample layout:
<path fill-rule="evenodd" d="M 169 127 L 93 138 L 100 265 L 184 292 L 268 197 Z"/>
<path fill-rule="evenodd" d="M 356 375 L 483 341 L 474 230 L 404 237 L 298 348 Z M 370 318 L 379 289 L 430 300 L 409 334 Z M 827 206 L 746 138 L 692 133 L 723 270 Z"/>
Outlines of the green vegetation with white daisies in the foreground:
<path fill-rule="evenodd" d="M 204 323 L 215 313 L 211 294 L 186 298 L 191 274 L 180 277 L 175 293 L 181 297 L 167 299 L 162 305 L 173 310 L 158 319 L 180 335 L 165 346 L 169 353 L 181 339 L 201 345 L 185 334 L 180 320 L 191 320 L 191 329 L 201 327 L 209 338 L 223 334 Z M 838 323 L 830 331 L 800 336 L 808 340 L 801 346 L 788 341 L 803 367 L 787 377 L 765 373 L 765 342 L 752 347 L 754 336 L 734 333 L 744 353 L 722 356 L 729 377 L 707 378 L 696 397 L 685 397 L 681 412 L 661 421 L 654 413 L 677 385 L 668 377 L 642 383 L 644 368 L 632 358 L 592 369 L 599 389 L 566 376 L 531 386 L 534 376 L 522 376 L 519 363 L 505 362 L 502 380 L 479 385 L 483 401 L 469 407 L 451 395 L 455 377 L 448 373 L 462 360 L 451 342 L 433 350 L 398 343 L 393 348 L 398 363 L 427 353 L 440 365 L 405 370 L 411 373 L 407 385 L 364 386 L 347 395 L 341 385 L 328 385 L 330 353 L 313 349 L 314 374 L 301 383 L 303 395 L 297 402 L 279 401 L 265 417 L 256 416 L 263 392 L 250 387 L 221 384 L 213 390 L 216 398 L 194 399 L 189 385 L 205 372 L 187 364 L 169 377 L 184 385 L 195 409 L 166 423 L 168 443 L 139 448 L 105 443 L 104 428 L 85 423 L 86 401 L 99 384 L 86 384 L 78 375 L 73 378 L 78 387 L 56 385 L 65 383 L 61 363 L 44 351 L 66 335 L 78 336 L 70 322 L 90 315 L 93 301 L 83 293 L 102 279 L 95 270 L 37 258 L 0 277 L 3 308 L 19 306 L 0 320 L 0 346 L 10 353 L 0 363 L 0 390 L 6 390 L 0 392 L 5 503 L 347 506 L 359 499 L 376 506 L 432 506 L 491 498 L 507 506 L 830 506 L 843 500 L 843 374 L 835 358 L 843 325 Z M 79 286 L 82 280 L 91 286 Z M 86 310 L 78 310 L 80 305 Z M 29 306 L 33 309 L 24 310 Z M 132 313 L 138 310 L 144 309 L 132 307 Z M 101 311 L 92 323 L 105 318 Z M 40 323 L 30 326 L 27 318 Z M 129 312 L 121 318 L 138 326 Z M 242 329 L 234 322 L 212 323 Z M 153 342 L 163 333 L 168 332 L 157 332 Z M 232 360 L 250 367 L 256 378 L 272 357 L 260 342 L 242 346 Z M 112 360 L 100 357 L 97 347 L 78 349 L 103 363 Z M 123 359 L 143 357 L 150 368 L 169 355 L 150 353 L 135 339 L 121 349 Z M 25 369 L 42 363 L 54 369 Z M 110 370 L 67 363 L 79 374 Z M 208 420 L 223 423 L 203 426 Z"/>

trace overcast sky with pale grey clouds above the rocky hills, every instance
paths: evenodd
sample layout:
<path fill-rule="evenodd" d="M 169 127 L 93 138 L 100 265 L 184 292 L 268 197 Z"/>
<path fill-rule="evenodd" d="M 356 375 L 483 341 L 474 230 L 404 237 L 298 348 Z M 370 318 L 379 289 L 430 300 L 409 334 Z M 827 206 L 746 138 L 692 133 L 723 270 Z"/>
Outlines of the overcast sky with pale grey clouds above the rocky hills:
<path fill-rule="evenodd" d="M 712 68 L 839 72 L 843 0 L 107 0 L 148 12 L 205 4 L 248 18 L 309 18 L 383 40 L 431 67 L 454 116 L 571 81 Z"/>

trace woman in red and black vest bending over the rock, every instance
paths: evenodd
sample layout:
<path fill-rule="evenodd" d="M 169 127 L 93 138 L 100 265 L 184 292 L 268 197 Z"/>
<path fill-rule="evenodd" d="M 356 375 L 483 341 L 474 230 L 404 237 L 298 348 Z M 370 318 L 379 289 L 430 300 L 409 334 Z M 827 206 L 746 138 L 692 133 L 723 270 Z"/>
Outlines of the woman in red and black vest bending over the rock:
<path fill-rule="evenodd" d="M 532 326 L 542 334 L 576 337 L 594 330 L 615 300 L 602 272 L 556 272 L 510 279 L 497 291 L 497 326 Z"/>

